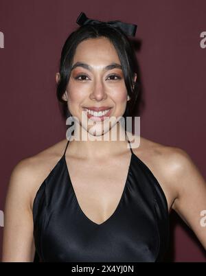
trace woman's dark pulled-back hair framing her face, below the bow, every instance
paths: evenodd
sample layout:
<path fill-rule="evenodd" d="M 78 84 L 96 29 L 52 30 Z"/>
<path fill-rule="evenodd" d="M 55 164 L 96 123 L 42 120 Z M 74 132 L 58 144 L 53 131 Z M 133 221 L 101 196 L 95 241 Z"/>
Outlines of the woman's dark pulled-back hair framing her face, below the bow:
<path fill-rule="evenodd" d="M 122 71 L 124 76 L 124 82 L 128 92 L 130 100 L 126 104 L 126 111 L 123 117 L 133 116 L 133 111 L 135 104 L 137 102 L 137 97 L 139 94 L 139 82 L 138 75 L 135 82 L 135 67 L 137 67 L 137 59 L 135 56 L 135 47 L 133 47 L 132 42 L 129 40 L 128 36 L 124 34 L 119 27 L 113 27 L 106 23 L 98 23 L 95 25 L 82 25 L 78 29 L 68 36 L 62 47 L 61 58 L 60 58 L 60 80 L 57 83 L 56 95 L 58 101 L 62 106 L 62 115 L 67 118 L 71 114 L 67 108 L 67 102 L 62 99 L 62 95 L 67 89 L 67 84 L 71 75 L 71 67 L 73 63 L 73 57 L 76 52 L 76 47 L 79 43 L 89 38 L 108 38 L 113 46 L 115 47 L 119 60 L 122 65 Z"/>

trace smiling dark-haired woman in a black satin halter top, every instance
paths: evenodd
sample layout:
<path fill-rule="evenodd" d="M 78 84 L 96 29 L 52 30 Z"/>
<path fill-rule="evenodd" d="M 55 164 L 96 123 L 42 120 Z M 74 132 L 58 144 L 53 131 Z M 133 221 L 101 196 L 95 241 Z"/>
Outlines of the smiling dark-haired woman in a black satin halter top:
<path fill-rule="evenodd" d="M 32 262 L 35 249 L 42 262 L 161 261 L 171 209 L 206 248 L 206 185 L 188 154 L 138 135 L 132 149 L 128 135 L 119 139 L 125 129 L 118 119 L 102 127 L 130 115 L 137 99 L 126 25 L 82 13 L 78 19 L 56 82 L 58 100 L 76 118 L 76 137 L 87 139 L 69 135 L 16 165 L 5 204 L 3 262 Z M 92 139 L 108 134 L 109 141 Z"/>

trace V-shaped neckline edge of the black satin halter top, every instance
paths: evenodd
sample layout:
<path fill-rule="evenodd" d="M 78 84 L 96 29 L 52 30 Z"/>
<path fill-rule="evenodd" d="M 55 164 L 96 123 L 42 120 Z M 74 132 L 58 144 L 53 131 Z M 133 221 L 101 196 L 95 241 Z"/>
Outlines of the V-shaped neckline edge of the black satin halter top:
<path fill-rule="evenodd" d="M 133 161 L 133 151 L 130 150 L 130 163 L 128 165 L 128 172 L 127 172 L 127 175 L 126 175 L 126 181 L 124 183 L 124 189 L 123 189 L 123 192 L 122 192 L 122 195 L 119 199 L 119 202 L 117 204 L 117 207 L 115 208 L 115 210 L 113 211 L 113 213 L 111 214 L 111 216 L 109 216 L 106 220 L 104 220 L 103 222 L 101 222 L 100 224 L 99 223 L 96 223 L 94 222 L 93 220 L 91 220 L 85 213 L 84 211 L 82 210 L 82 207 L 80 207 L 80 204 L 78 202 L 78 198 L 76 196 L 76 192 L 73 188 L 73 184 L 71 182 L 71 177 L 70 177 L 70 174 L 69 174 L 69 168 L 67 166 L 67 161 L 66 161 L 66 157 L 65 157 L 65 154 L 63 155 L 63 159 L 64 159 L 64 162 L 65 162 L 65 168 L 66 168 L 66 171 L 67 171 L 67 175 L 68 175 L 68 178 L 69 178 L 69 185 L 72 189 L 72 192 L 73 192 L 73 196 L 76 200 L 76 203 L 77 203 L 77 206 L 78 206 L 78 209 L 80 209 L 80 212 L 81 214 L 83 215 L 84 218 L 86 218 L 91 224 L 97 226 L 97 227 L 101 227 L 102 225 L 105 225 L 107 222 L 111 221 L 114 217 L 115 217 L 115 214 L 117 213 L 117 211 L 119 210 L 120 208 L 120 205 L 122 203 L 122 200 L 124 199 L 124 194 L 126 193 L 126 189 L 128 187 L 128 176 L 130 174 L 130 167 L 132 165 L 132 161 Z"/>

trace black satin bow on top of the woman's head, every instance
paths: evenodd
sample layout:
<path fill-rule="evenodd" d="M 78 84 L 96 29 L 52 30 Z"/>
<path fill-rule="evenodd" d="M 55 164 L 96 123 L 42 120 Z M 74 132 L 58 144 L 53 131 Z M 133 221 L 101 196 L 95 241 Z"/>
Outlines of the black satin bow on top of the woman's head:
<path fill-rule="evenodd" d="M 135 36 L 136 30 L 137 30 L 137 25 L 135 24 L 128 24 L 124 23 L 122 21 L 107 21 L 107 22 L 102 22 L 98 20 L 93 20 L 89 19 L 84 12 L 81 12 L 80 15 L 78 16 L 78 19 L 76 20 L 76 23 L 78 25 L 86 25 L 86 24 L 97 24 L 97 23 L 106 23 L 108 25 L 112 25 L 113 27 L 119 27 L 125 34 L 128 36 Z"/>

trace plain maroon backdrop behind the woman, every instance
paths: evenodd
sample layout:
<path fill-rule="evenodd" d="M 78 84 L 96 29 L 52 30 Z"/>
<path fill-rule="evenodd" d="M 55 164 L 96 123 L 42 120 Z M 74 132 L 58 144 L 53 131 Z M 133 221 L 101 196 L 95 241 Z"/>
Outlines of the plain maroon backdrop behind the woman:
<path fill-rule="evenodd" d="M 200 47 L 200 34 L 206 31 L 205 0 L 1 0 L 1 210 L 14 165 L 65 139 L 55 73 L 62 45 L 78 27 L 81 11 L 92 19 L 138 25 L 145 102 L 141 136 L 183 148 L 206 177 L 206 48 Z M 194 233 L 174 212 L 168 260 L 206 260 Z"/>

